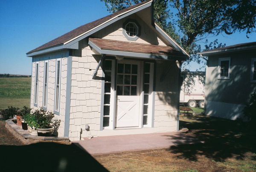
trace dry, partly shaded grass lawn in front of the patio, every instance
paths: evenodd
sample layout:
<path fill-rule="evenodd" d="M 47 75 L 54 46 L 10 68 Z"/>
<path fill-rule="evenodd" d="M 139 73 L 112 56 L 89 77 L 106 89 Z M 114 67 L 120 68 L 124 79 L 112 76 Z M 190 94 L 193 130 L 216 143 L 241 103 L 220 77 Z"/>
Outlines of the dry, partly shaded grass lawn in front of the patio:
<path fill-rule="evenodd" d="M 181 117 L 180 126 L 205 143 L 93 157 L 111 172 L 256 171 L 255 131 L 236 121 L 201 115 Z"/>

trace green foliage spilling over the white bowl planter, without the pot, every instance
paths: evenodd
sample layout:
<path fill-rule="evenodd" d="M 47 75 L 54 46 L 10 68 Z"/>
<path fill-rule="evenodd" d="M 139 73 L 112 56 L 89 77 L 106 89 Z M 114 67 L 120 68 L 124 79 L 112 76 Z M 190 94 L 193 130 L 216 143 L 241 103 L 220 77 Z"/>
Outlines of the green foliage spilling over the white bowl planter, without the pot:
<path fill-rule="evenodd" d="M 61 120 L 54 119 L 54 113 L 40 108 L 33 113 L 23 116 L 24 121 L 30 126 L 35 128 L 56 128 L 60 126 Z"/>

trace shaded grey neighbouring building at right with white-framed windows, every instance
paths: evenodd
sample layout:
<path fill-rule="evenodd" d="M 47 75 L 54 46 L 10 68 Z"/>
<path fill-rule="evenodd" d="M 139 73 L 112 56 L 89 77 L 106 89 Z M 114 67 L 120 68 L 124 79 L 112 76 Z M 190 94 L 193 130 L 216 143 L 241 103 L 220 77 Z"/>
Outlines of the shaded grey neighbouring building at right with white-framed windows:
<path fill-rule="evenodd" d="M 256 42 L 198 54 L 208 56 L 205 113 L 232 120 L 243 118 L 242 110 L 256 91 Z"/>

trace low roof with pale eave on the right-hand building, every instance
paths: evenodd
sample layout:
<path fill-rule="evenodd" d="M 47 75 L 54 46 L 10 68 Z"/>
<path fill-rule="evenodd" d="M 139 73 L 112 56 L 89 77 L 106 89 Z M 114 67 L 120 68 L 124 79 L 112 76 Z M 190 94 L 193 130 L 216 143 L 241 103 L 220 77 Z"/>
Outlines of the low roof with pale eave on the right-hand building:
<path fill-rule="evenodd" d="M 228 53 L 232 51 L 241 51 L 241 50 L 249 50 L 249 49 L 256 49 L 256 42 L 247 42 L 247 43 L 241 43 L 236 45 L 230 45 L 222 48 L 215 48 L 213 50 L 202 51 L 197 54 L 202 54 L 204 56 L 207 56 L 210 54 Z"/>

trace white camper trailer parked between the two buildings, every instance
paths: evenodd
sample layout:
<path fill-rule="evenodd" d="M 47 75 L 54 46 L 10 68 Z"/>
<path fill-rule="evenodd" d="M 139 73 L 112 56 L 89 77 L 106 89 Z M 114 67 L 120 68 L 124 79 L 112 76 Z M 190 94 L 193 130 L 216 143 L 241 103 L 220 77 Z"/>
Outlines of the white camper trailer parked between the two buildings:
<path fill-rule="evenodd" d="M 205 72 L 181 72 L 180 103 L 204 108 Z"/>

